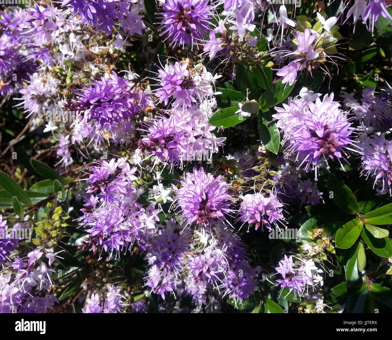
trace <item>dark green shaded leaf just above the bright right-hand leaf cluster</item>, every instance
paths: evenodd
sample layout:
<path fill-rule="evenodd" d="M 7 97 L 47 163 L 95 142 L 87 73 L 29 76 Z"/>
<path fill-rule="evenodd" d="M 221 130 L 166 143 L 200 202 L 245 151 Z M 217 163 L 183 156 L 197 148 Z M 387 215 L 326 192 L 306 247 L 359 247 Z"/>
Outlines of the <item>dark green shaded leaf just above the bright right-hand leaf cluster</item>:
<path fill-rule="evenodd" d="M 359 211 L 358 202 L 346 184 L 335 178 L 328 180 L 328 191 L 332 192 L 332 201 L 345 212 L 355 214 Z"/>

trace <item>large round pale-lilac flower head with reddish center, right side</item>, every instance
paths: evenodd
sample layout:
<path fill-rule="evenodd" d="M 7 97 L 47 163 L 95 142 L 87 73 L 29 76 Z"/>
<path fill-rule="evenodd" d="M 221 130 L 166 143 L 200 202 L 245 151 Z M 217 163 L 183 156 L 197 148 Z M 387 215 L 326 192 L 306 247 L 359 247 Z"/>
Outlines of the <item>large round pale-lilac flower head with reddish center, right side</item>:
<path fill-rule="evenodd" d="M 333 94 L 326 94 L 321 101 L 320 94 L 306 88 L 301 90 L 300 96 L 294 100 L 289 98 L 284 109 L 275 107 L 278 113 L 273 117 L 279 119 L 277 127 L 284 131 L 283 141 L 289 142 L 285 151 L 298 153 L 301 165 L 306 163 L 306 172 L 311 165 L 320 166 L 321 156 L 325 161 L 326 157 L 337 158 L 339 162 L 345 159 L 343 150 L 352 144 L 354 128 L 345 112 L 339 109 L 339 102 L 333 100 Z"/>

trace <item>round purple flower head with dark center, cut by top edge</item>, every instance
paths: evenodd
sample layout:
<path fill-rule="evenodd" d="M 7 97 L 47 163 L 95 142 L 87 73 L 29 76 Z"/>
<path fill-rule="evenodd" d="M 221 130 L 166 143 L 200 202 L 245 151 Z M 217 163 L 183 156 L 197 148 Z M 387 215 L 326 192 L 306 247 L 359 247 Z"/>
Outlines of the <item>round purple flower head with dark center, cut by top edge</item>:
<path fill-rule="evenodd" d="M 162 4 L 162 36 L 171 40 L 172 46 L 193 45 L 203 39 L 211 27 L 212 7 L 208 1 L 166 0 Z"/>

